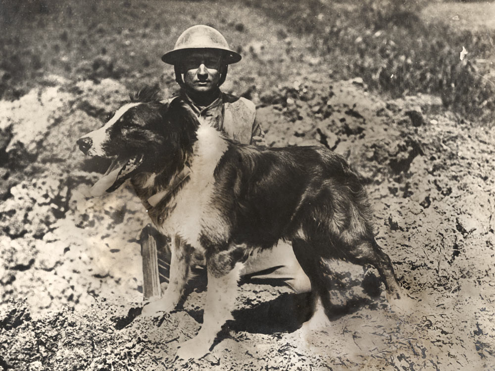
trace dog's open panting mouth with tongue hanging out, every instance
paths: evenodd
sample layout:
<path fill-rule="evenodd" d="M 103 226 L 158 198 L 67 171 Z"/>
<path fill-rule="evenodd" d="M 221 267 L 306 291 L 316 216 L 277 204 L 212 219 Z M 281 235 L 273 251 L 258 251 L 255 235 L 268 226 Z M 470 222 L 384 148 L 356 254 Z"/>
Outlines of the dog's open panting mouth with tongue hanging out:
<path fill-rule="evenodd" d="M 137 155 L 130 159 L 120 156 L 115 157 L 103 176 L 91 187 L 91 196 L 98 197 L 115 191 L 142 163 L 142 155 Z"/>

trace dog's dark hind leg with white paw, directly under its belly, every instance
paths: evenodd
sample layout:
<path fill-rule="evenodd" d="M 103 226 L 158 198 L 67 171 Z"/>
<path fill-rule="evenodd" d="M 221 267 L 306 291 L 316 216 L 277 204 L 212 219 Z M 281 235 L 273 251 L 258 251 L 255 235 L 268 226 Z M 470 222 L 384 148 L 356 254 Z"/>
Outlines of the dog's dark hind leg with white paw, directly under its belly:
<path fill-rule="evenodd" d="M 292 241 L 292 248 L 299 265 L 311 283 L 310 303 L 313 316 L 304 327 L 314 330 L 326 325 L 331 315 L 330 278 L 324 275 L 326 262 L 322 261 L 310 243 L 296 239 Z"/>

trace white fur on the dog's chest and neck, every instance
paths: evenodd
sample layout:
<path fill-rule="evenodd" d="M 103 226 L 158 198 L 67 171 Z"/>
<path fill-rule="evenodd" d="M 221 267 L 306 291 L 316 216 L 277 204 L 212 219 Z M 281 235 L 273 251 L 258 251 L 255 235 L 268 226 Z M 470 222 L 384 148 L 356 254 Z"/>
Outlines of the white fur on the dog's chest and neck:
<path fill-rule="evenodd" d="M 201 250 L 199 236 L 205 225 L 211 226 L 211 220 L 215 220 L 218 213 L 211 204 L 215 183 L 213 172 L 228 147 L 222 134 L 201 120 L 197 135 L 190 180 L 171 200 L 171 206 L 175 204 L 175 208 L 164 221 L 162 232 L 179 235 Z"/>

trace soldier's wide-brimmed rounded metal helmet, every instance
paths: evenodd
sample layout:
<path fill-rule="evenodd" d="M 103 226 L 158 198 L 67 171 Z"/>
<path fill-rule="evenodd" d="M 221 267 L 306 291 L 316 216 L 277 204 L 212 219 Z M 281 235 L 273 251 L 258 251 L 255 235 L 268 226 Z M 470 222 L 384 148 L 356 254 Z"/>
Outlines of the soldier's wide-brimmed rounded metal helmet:
<path fill-rule="evenodd" d="M 237 63 L 242 58 L 241 54 L 229 48 L 227 40 L 220 32 L 213 27 L 198 24 L 184 31 L 177 39 L 174 49 L 163 54 L 161 60 L 177 65 L 184 57 L 184 53 L 198 49 L 221 53 L 225 64 Z"/>

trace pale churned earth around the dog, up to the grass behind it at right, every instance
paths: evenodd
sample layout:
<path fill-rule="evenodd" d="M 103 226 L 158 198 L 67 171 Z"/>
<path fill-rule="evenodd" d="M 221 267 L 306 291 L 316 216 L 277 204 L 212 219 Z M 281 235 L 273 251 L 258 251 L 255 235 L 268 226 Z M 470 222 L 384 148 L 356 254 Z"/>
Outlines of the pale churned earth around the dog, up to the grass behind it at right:
<path fill-rule="evenodd" d="M 0 206 L 4 369 L 493 364 L 494 182 L 486 156 L 494 150 L 494 132 L 439 113 L 436 101 L 424 96 L 382 101 L 360 79 L 322 82 L 315 76 L 260 96 L 258 119 L 269 145 L 324 145 L 361 173 L 374 203 L 377 240 L 417 307 L 410 316 L 390 312 L 377 272 L 335 262 L 335 318 L 308 330 L 301 327 L 309 316 L 306 294 L 244 282 L 235 320 L 213 352 L 180 364 L 175 349 L 196 334 L 204 292 L 193 292 L 184 309 L 170 315 L 140 316 L 137 236 L 148 223 L 146 213 L 125 187 L 104 199 L 87 198 L 99 176 L 92 170 L 104 171 L 106 164 L 74 153 L 75 139 L 99 126 L 96 117 L 119 106 L 125 89 L 113 80 L 59 89 L 63 102 L 40 104 L 45 134 L 9 129 L 3 148 L 7 155 L 22 148 L 44 159 L 44 165 L 24 168 L 35 177 L 12 175 L 16 184 Z M 51 93 L 33 94 L 43 102 Z M 12 105 L 8 112 L 12 128 L 28 124 L 29 116 L 17 109 Z M 54 142 L 60 146 L 56 156 Z"/>

